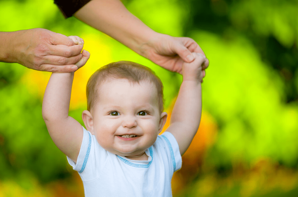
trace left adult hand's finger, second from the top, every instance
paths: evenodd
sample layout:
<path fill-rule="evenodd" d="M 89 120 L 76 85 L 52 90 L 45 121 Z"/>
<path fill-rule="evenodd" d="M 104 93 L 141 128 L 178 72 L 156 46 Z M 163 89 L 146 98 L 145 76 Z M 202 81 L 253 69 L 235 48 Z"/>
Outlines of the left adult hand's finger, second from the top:
<path fill-rule="evenodd" d="M 83 49 L 82 45 L 73 45 L 73 46 L 49 45 L 49 55 L 72 57 L 80 54 L 82 49 Z"/>

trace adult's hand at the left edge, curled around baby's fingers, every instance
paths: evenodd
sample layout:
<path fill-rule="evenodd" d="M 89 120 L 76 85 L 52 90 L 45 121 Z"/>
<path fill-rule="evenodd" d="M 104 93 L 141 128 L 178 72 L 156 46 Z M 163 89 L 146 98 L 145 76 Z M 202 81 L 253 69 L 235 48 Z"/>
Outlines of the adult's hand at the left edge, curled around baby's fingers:
<path fill-rule="evenodd" d="M 71 38 L 50 30 L 36 28 L 1 32 L 1 35 L 1 42 L 3 40 L 4 43 L 1 47 L 6 48 L 3 52 L 5 58 L 0 59 L 3 62 L 16 62 L 34 70 L 62 73 L 77 70 L 79 67 L 75 63 L 83 57 L 82 45 L 76 45 Z"/>

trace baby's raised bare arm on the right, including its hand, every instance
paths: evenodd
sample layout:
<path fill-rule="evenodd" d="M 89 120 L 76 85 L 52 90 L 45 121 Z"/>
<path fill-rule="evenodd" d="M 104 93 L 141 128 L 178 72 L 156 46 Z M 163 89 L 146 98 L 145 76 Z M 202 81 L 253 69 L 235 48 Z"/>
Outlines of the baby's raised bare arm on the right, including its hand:
<path fill-rule="evenodd" d="M 205 71 L 202 65 L 206 58 L 199 53 L 193 53 L 195 59 L 191 63 L 183 63 L 183 82 L 171 115 L 167 131 L 176 138 L 181 155 L 191 144 L 198 131 L 202 113 L 202 78 Z"/>

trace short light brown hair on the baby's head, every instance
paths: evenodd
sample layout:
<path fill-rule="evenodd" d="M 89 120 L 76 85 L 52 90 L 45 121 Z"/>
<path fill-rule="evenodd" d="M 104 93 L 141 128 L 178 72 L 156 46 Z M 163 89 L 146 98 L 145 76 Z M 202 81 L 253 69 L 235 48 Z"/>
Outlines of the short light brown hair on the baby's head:
<path fill-rule="evenodd" d="M 88 80 L 86 87 L 87 109 L 93 108 L 98 98 L 97 87 L 107 79 L 127 79 L 129 82 L 140 83 L 141 81 L 149 81 L 153 83 L 157 89 L 158 107 L 160 113 L 163 111 L 163 85 L 158 76 L 148 67 L 130 61 L 119 61 L 109 63 L 96 70 Z"/>

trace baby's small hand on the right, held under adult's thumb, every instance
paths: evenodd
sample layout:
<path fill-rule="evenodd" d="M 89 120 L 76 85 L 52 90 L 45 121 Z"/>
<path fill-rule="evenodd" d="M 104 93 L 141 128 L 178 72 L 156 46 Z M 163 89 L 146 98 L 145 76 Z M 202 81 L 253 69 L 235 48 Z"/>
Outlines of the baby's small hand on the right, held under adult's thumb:
<path fill-rule="evenodd" d="M 202 66 L 204 66 L 207 59 L 201 53 L 194 52 L 192 54 L 195 57 L 194 61 L 191 63 L 184 62 L 182 65 L 183 81 L 203 82 L 205 70 L 202 69 Z"/>

